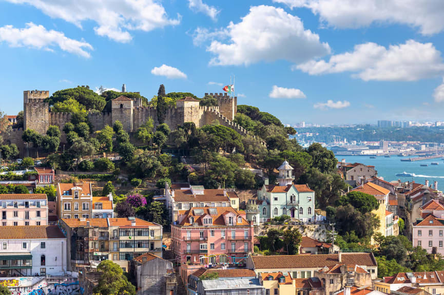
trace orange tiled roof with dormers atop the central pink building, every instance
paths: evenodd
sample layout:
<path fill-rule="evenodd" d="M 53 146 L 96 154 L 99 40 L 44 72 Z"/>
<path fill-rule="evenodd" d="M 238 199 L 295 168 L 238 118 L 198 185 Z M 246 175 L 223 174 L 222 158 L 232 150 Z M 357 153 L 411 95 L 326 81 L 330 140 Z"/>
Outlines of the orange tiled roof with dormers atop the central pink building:
<path fill-rule="evenodd" d="M 210 215 L 209 209 L 216 209 L 217 214 L 216 215 Z M 202 209 L 203 214 L 202 215 L 195 215 L 196 210 Z M 236 223 L 237 225 L 250 225 L 248 221 L 240 214 L 238 210 L 235 210 L 233 207 L 192 207 L 188 210 L 179 210 L 179 215 L 184 215 L 182 221 L 179 225 L 181 226 L 189 226 L 191 223 L 189 223 L 189 218 L 194 218 L 194 223 L 197 223 L 198 225 L 203 225 L 203 218 L 205 216 L 211 216 L 211 219 L 213 221 L 212 225 L 226 225 L 224 215 L 227 213 L 234 213 L 236 215 L 236 222 L 237 218 L 239 216 L 242 217 L 242 223 Z"/>

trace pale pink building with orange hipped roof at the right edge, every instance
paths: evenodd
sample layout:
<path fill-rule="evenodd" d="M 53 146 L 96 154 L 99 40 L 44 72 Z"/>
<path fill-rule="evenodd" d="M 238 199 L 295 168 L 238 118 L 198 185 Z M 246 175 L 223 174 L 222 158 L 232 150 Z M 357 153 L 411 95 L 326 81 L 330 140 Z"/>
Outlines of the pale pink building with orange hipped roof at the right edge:
<path fill-rule="evenodd" d="M 429 214 L 413 223 L 413 246 L 421 246 L 427 252 L 444 255 L 444 219 Z"/>

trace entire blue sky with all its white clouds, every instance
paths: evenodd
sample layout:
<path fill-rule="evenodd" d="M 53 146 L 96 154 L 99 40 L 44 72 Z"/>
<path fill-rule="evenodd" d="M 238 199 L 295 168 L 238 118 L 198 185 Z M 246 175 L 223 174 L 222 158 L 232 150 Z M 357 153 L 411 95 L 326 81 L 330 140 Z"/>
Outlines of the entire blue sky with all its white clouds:
<path fill-rule="evenodd" d="M 201 97 L 235 74 L 238 104 L 284 123 L 440 120 L 443 13 L 439 0 L 0 0 L 0 110 L 77 85 Z"/>

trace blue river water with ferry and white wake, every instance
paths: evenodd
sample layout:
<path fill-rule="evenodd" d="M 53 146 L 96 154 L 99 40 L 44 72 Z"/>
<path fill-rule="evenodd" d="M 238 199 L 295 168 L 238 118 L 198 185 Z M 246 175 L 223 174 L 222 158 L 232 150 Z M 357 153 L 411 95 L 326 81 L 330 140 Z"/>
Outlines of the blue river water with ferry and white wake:
<path fill-rule="evenodd" d="M 433 181 L 438 181 L 438 188 L 441 182 L 441 189 L 444 188 L 444 160 L 441 158 L 421 160 L 415 162 L 401 162 L 402 158 L 391 156 L 390 158 L 385 158 L 384 156 L 377 156 L 375 159 L 371 159 L 370 156 L 342 156 L 336 155 L 338 161 L 345 159 L 345 162 L 358 162 L 365 165 L 374 165 L 376 171 L 378 171 L 378 176 L 383 177 L 386 181 L 398 180 L 402 181 L 415 181 L 417 183 L 424 183 L 424 181 L 429 180 L 430 184 Z M 432 165 L 432 162 L 437 162 L 438 165 Z M 422 167 L 420 164 L 428 164 L 427 167 Z M 399 177 L 395 174 L 403 172 L 414 174 L 413 177 Z"/>

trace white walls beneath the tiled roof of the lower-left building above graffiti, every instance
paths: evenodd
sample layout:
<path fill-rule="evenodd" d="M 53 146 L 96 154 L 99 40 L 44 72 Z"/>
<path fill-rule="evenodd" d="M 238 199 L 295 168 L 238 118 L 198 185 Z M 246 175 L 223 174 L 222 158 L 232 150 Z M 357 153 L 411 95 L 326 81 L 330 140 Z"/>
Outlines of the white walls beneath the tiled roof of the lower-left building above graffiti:
<path fill-rule="evenodd" d="M 31 273 L 28 270 L 28 274 L 31 276 L 61 276 L 66 274 L 66 238 L 0 239 L 0 245 L 1 256 L 3 257 L 30 253 L 32 255 L 32 268 Z M 13 273 L 19 275 L 16 270 Z M 23 275 L 23 272 L 21 274 Z"/>

